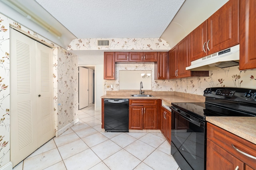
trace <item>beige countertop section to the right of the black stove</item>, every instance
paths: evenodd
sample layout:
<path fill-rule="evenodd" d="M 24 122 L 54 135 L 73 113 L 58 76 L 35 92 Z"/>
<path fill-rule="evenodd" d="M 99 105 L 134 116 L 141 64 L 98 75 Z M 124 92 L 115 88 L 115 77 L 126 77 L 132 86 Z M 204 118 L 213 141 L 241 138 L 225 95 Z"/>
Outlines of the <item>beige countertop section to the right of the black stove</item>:
<path fill-rule="evenodd" d="M 256 144 L 256 117 L 206 117 L 206 121 Z"/>

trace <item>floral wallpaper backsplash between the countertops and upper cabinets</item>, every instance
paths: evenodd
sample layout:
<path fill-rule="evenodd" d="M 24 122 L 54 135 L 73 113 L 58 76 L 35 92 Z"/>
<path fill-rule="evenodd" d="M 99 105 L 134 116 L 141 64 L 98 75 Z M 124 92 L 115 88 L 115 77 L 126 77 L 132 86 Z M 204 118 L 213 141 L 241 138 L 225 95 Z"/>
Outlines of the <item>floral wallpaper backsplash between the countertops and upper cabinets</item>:
<path fill-rule="evenodd" d="M 116 80 L 104 80 L 105 93 L 119 90 L 119 70 L 152 70 L 152 91 L 176 91 L 203 95 L 204 89 L 209 87 L 256 89 L 256 70 L 240 71 L 238 66 L 210 70 L 209 77 L 154 80 L 154 63 L 136 63 L 116 64 Z"/>

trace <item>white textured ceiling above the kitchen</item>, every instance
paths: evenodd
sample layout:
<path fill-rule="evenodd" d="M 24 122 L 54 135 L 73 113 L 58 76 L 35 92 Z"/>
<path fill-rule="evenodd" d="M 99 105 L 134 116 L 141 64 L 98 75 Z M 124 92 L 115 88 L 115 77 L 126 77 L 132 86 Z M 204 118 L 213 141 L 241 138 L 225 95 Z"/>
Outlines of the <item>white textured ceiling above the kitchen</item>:
<path fill-rule="evenodd" d="M 159 38 L 185 0 L 35 0 L 77 38 Z"/>

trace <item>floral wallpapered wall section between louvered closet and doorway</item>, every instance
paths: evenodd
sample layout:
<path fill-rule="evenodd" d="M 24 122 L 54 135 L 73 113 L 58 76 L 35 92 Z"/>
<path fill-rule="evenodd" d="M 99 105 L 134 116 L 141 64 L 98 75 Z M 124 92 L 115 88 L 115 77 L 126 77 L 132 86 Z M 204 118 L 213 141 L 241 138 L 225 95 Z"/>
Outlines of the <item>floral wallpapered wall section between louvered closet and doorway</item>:
<path fill-rule="evenodd" d="M 58 47 L 58 129 L 78 119 L 77 56 Z"/>

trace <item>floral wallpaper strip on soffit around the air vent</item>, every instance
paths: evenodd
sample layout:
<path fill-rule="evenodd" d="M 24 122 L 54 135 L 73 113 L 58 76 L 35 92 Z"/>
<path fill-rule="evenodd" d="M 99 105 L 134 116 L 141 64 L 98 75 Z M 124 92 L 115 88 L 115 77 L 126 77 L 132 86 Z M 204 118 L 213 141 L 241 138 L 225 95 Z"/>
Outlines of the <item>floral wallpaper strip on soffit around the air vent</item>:
<path fill-rule="evenodd" d="M 108 39 L 109 47 L 99 47 L 98 40 L 102 39 L 74 39 L 68 50 L 170 50 L 169 44 L 160 38 Z"/>

